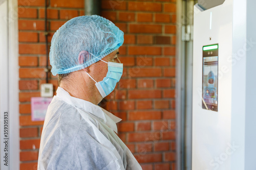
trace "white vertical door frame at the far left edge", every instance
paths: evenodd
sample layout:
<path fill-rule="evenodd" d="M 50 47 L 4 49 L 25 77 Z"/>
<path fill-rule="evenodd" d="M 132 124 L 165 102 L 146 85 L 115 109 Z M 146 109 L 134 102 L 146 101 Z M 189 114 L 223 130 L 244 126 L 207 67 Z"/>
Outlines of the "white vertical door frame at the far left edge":
<path fill-rule="evenodd" d="M 16 0 L 0 0 L 0 169 L 19 169 L 18 12 Z M 7 125 L 8 135 L 4 134 Z M 5 124 L 6 123 L 6 124 Z M 8 150 L 4 141 L 7 141 Z M 8 166 L 4 156 L 8 154 Z"/>

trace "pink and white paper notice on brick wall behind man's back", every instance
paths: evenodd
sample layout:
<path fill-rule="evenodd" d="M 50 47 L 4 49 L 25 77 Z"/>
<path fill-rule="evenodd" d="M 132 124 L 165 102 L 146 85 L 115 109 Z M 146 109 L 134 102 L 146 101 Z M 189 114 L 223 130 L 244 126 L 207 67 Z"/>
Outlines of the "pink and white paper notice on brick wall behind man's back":
<path fill-rule="evenodd" d="M 53 98 L 31 98 L 31 119 L 32 121 L 45 120 L 48 106 Z"/>

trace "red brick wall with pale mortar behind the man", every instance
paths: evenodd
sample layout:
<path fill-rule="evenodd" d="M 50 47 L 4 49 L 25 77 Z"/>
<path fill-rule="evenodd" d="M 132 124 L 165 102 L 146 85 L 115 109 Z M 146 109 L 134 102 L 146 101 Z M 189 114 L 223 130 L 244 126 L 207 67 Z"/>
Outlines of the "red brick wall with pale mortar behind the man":
<path fill-rule="evenodd" d="M 18 0 L 20 169 L 36 169 L 44 122 L 31 121 L 30 98 L 45 83 L 42 0 Z M 49 41 L 67 20 L 83 15 L 83 1 L 50 0 Z M 102 0 L 102 16 L 124 33 L 124 74 L 106 108 L 123 119 L 119 136 L 143 169 L 175 169 L 175 0 Z M 50 83 L 56 90 L 56 77 Z"/>

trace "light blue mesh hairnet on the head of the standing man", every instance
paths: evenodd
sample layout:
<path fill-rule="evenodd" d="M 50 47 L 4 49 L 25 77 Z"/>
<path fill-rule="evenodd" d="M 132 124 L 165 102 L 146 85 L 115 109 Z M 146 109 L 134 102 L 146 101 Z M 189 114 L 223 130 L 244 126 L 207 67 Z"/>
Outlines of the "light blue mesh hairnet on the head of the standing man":
<path fill-rule="evenodd" d="M 51 72 L 56 76 L 86 68 L 122 44 L 123 32 L 110 20 L 98 15 L 75 17 L 61 26 L 52 37 Z M 81 51 L 89 54 L 83 63 L 78 61 Z"/>

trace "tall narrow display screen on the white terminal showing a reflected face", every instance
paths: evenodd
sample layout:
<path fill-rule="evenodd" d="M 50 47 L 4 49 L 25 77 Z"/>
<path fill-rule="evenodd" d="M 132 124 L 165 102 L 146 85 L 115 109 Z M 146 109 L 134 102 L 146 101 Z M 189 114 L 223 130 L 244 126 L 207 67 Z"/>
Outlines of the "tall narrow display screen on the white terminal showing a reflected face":
<path fill-rule="evenodd" d="M 219 44 L 203 46 L 202 108 L 218 111 Z"/>

